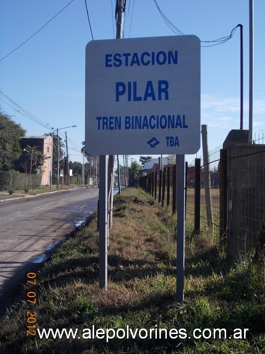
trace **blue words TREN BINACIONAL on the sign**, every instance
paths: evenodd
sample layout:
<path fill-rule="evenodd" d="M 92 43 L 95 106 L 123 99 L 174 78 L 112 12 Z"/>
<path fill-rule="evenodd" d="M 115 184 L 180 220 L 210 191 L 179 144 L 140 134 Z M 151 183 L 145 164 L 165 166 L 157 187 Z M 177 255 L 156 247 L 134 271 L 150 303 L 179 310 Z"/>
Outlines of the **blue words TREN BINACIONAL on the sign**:
<path fill-rule="evenodd" d="M 185 114 L 97 117 L 98 130 L 185 129 Z"/>

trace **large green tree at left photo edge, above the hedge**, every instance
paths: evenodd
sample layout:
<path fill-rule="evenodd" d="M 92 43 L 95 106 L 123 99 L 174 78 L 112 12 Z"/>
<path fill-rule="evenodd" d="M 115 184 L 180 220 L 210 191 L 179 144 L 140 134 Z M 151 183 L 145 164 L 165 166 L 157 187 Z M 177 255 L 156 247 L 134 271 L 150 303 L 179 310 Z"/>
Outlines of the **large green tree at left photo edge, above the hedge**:
<path fill-rule="evenodd" d="M 26 131 L 9 116 L 0 112 L 0 170 L 9 171 L 22 154 L 19 144 Z"/>

